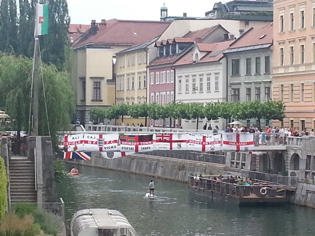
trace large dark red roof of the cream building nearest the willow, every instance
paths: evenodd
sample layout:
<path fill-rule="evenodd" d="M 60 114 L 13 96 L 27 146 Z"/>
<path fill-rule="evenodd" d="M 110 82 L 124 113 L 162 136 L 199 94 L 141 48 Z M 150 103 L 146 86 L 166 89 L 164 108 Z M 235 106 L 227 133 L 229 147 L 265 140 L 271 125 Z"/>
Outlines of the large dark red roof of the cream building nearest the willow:
<path fill-rule="evenodd" d="M 93 44 L 142 44 L 161 35 L 171 21 L 107 20 L 106 26 L 90 27 L 74 47 Z"/>

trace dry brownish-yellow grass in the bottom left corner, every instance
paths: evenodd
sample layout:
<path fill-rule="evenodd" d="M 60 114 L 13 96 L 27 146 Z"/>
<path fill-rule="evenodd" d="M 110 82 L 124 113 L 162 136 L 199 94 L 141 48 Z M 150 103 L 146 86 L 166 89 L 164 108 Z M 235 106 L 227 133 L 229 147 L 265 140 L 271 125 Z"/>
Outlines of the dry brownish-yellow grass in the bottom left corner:
<path fill-rule="evenodd" d="M 0 227 L 0 236 L 45 236 L 40 225 L 34 223 L 34 217 L 25 215 L 23 217 L 9 212 L 3 218 Z"/>

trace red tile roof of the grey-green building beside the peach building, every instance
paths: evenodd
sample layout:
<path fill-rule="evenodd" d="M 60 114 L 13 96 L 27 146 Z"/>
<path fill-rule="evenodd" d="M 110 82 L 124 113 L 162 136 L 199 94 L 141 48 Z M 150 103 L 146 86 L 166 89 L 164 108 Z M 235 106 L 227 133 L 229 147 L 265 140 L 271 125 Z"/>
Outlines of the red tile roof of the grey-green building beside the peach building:
<path fill-rule="evenodd" d="M 261 36 L 265 35 L 260 39 Z M 243 48 L 273 42 L 273 23 L 266 25 L 261 29 L 250 28 L 241 37 L 235 40 L 230 48 Z"/>

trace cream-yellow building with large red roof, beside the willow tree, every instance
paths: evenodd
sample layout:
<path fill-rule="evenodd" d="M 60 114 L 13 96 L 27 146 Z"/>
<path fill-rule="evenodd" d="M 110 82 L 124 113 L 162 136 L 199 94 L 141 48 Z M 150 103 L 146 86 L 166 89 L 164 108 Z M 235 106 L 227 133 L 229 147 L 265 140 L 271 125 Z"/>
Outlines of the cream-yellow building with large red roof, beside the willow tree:
<path fill-rule="evenodd" d="M 150 42 L 161 35 L 170 22 L 92 20 L 91 27 L 73 42 L 72 86 L 76 93 L 77 118 L 89 123 L 92 107 L 115 104 L 116 53 Z"/>

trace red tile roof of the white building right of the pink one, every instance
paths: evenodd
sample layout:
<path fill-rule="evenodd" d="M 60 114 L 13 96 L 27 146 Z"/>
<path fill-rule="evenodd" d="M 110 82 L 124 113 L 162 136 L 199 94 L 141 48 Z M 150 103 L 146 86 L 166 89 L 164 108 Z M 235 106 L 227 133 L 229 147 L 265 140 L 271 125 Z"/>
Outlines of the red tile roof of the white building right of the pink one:
<path fill-rule="evenodd" d="M 197 43 L 197 46 L 200 51 L 208 52 L 205 56 L 203 56 L 197 63 L 202 62 L 212 62 L 218 61 L 223 56 L 223 51 L 230 46 L 233 41 L 224 41 L 217 42 L 211 44 Z M 179 60 L 177 60 L 174 65 L 188 65 L 192 64 L 194 61 L 194 56 L 192 54 L 192 50 L 189 50 L 185 55 L 183 55 Z"/>

